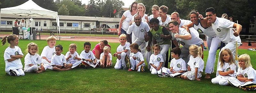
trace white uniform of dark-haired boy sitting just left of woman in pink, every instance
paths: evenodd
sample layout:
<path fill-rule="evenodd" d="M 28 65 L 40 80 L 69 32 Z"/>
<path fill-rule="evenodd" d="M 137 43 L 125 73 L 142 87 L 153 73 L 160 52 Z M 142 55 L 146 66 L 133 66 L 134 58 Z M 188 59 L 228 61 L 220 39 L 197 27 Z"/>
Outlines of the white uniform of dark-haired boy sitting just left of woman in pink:
<path fill-rule="evenodd" d="M 80 57 L 82 58 L 82 60 L 91 59 L 92 61 L 94 61 L 94 59 L 96 59 L 91 50 L 88 53 L 86 53 L 85 50 L 83 50 L 80 53 Z M 86 66 L 92 66 L 93 68 L 95 68 L 100 63 L 100 60 L 97 60 L 96 64 L 90 63 L 89 61 L 83 61 L 82 63 L 85 64 Z"/>

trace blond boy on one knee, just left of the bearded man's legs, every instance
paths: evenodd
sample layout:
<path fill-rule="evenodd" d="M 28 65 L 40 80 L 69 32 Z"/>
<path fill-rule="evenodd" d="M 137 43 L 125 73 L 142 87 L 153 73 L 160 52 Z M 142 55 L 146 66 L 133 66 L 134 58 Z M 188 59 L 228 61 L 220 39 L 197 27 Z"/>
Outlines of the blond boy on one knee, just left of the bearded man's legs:
<path fill-rule="evenodd" d="M 128 63 L 128 55 L 130 55 L 130 43 L 126 42 L 126 35 L 121 34 L 119 36 L 119 42 L 121 43 L 117 49 L 116 53 L 113 54 L 116 57 L 115 69 L 127 69 L 126 63 Z"/>

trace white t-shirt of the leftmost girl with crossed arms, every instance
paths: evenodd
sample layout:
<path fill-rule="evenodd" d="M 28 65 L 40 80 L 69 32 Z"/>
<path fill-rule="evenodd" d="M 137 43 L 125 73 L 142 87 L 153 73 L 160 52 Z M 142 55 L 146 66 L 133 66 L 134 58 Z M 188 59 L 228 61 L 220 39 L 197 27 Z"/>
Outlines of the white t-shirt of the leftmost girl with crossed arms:
<path fill-rule="evenodd" d="M 10 47 L 7 47 L 4 50 L 4 62 L 5 62 L 5 72 L 6 73 L 9 72 L 10 69 L 20 69 L 23 67 L 20 59 L 16 59 L 14 61 L 8 62 L 7 60 L 11 59 L 11 55 L 16 55 L 16 56 L 22 55 L 23 56 L 23 53 L 22 53 L 20 47 L 18 47 L 18 46 L 14 46 L 13 49 Z"/>

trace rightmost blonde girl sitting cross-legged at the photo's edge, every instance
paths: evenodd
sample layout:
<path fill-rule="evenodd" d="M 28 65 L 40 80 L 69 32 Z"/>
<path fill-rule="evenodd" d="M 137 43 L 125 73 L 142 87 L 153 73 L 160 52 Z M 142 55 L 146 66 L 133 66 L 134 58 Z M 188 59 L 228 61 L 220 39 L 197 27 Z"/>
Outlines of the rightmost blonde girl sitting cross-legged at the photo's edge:
<path fill-rule="evenodd" d="M 256 71 L 252 68 L 251 58 L 248 54 L 240 55 L 238 58 L 237 78 L 230 77 L 228 82 L 237 88 L 244 90 L 256 89 Z"/>

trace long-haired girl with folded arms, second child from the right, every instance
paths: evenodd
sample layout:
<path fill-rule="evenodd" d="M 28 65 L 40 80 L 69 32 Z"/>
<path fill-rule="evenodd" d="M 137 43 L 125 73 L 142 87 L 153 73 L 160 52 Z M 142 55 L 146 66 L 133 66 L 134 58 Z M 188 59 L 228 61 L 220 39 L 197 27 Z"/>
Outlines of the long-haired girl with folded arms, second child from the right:
<path fill-rule="evenodd" d="M 213 84 L 229 85 L 228 78 L 236 77 L 236 63 L 231 50 L 224 49 L 220 52 L 220 64 L 217 71 L 219 75 L 212 79 Z"/>

